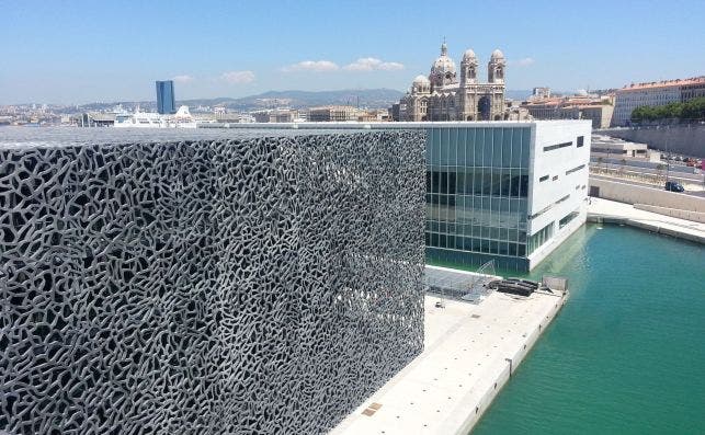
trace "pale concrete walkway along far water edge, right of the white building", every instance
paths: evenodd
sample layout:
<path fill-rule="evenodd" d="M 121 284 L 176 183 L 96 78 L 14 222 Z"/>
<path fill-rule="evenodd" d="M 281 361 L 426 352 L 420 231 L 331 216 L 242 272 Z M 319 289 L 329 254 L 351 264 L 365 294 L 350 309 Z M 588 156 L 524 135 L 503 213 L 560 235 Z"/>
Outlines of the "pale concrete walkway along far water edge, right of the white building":
<path fill-rule="evenodd" d="M 630 204 L 591 198 L 589 222 L 624 224 L 632 227 L 705 244 L 705 224 L 634 208 Z"/>

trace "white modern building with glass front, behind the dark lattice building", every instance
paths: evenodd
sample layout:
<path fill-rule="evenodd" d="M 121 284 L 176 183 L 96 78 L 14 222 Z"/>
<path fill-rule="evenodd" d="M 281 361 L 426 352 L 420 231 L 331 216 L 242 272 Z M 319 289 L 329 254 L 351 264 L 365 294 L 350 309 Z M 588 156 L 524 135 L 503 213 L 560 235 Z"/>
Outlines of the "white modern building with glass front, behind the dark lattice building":
<path fill-rule="evenodd" d="M 431 264 L 476 268 L 493 261 L 504 271 L 530 271 L 585 222 L 589 121 L 363 126 L 427 131 L 425 247 Z"/>

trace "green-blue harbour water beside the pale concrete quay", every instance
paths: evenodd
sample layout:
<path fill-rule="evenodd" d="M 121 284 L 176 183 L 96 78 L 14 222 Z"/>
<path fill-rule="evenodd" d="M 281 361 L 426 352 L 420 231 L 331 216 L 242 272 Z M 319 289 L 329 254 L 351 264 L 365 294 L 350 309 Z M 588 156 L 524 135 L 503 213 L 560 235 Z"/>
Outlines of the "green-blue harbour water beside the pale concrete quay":
<path fill-rule="evenodd" d="M 705 247 L 590 225 L 544 273 L 570 299 L 473 435 L 705 434 Z"/>

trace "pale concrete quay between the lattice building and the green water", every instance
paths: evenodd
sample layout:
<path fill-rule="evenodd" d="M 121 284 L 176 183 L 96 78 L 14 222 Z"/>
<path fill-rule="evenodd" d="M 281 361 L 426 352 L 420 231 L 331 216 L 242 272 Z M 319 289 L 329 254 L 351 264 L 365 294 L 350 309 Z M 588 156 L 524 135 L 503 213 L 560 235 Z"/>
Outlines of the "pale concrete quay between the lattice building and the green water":
<path fill-rule="evenodd" d="M 332 434 L 467 434 L 567 294 L 491 293 L 478 305 L 425 297 L 424 351 Z"/>

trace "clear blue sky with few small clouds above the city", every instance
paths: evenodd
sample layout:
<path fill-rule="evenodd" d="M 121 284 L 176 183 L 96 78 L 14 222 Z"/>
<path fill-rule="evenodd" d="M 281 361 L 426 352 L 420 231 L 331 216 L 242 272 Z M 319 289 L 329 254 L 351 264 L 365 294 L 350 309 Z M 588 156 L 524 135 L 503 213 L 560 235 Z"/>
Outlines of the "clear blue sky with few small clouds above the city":
<path fill-rule="evenodd" d="M 456 64 L 502 49 L 514 90 L 705 75 L 703 0 L 0 0 L 0 104 L 405 90 L 444 36 Z"/>

